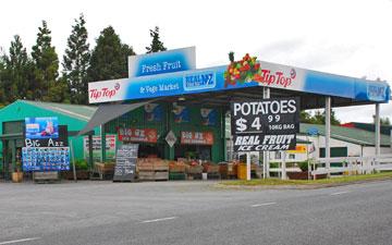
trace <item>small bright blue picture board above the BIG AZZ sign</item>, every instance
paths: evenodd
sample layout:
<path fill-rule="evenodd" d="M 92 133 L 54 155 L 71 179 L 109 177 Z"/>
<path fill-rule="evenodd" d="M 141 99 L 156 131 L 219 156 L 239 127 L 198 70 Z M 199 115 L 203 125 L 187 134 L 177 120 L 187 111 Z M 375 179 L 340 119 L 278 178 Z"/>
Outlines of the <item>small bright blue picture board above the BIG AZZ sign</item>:
<path fill-rule="evenodd" d="M 25 118 L 25 137 L 30 139 L 58 138 L 59 120 L 51 118 Z"/>

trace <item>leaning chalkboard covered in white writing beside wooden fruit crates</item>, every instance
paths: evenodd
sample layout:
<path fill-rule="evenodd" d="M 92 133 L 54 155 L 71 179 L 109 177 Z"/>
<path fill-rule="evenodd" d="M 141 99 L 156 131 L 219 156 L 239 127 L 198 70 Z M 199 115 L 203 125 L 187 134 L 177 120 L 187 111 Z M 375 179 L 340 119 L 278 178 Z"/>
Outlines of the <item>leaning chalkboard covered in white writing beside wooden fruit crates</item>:
<path fill-rule="evenodd" d="M 137 144 L 127 144 L 119 147 L 115 155 L 113 182 L 135 180 L 137 151 Z"/>

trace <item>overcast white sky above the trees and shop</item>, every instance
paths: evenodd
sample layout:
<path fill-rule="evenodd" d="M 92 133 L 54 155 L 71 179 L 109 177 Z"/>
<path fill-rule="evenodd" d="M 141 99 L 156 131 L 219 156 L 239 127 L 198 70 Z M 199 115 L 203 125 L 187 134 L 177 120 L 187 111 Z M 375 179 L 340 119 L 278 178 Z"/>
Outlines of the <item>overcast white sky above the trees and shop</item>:
<path fill-rule="evenodd" d="M 60 61 L 71 25 L 84 13 L 90 46 L 112 25 L 136 53 L 158 25 L 168 49 L 196 46 L 197 66 L 228 63 L 246 52 L 259 60 L 392 82 L 392 0 L 83 1 L 2 0 L 0 46 L 15 34 L 30 51 L 46 20 Z M 344 122 L 371 122 L 373 107 L 339 109 Z M 382 105 L 381 115 L 392 115 Z"/>

